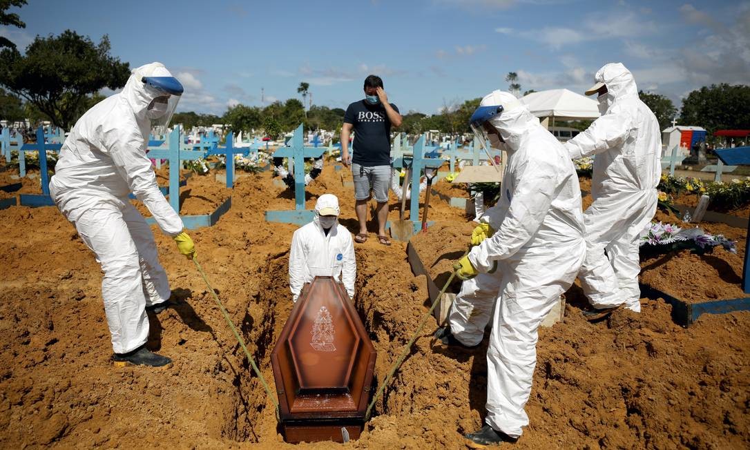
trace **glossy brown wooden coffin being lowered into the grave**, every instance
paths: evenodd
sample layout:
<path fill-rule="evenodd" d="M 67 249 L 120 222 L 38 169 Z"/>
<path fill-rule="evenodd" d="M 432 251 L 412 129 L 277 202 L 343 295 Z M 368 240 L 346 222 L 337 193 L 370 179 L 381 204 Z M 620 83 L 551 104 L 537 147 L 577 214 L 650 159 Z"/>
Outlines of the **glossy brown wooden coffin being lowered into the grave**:
<path fill-rule="evenodd" d="M 344 286 L 306 284 L 271 353 L 287 442 L 359 437 L 370 400 L 375 348 Z"/>

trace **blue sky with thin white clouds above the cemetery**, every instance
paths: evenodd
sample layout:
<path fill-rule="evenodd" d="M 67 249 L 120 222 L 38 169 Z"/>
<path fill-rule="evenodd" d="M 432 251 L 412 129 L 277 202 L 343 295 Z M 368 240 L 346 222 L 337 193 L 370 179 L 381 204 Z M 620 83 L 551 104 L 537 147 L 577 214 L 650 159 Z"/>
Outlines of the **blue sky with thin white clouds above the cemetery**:
<path fill-rule="evenodd" d="M 179 110 L 299 98 L 346 107 L 368 74 L 402 113 L 507 89 L 582 92 L 607 62 L 677 107 L 711 83 L 750 84 L 748 1 L 372 0 L 59 1 L 13 8 L 25 29 L 0 28 L 25 49 L 71 28 L 137 67 L 163 62 L 185 86 Z"/>

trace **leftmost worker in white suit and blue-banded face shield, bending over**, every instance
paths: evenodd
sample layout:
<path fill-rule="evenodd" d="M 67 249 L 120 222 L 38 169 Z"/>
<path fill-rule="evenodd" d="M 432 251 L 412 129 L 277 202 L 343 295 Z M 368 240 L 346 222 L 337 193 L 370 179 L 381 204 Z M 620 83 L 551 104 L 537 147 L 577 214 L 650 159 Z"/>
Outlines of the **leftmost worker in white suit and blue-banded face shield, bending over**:
<path fill-rule="evenodd" d="M 151 228 L 127 196 L 135 193 L 180 253 L 194 257 L 193 241 L 159 190 L 145 154 L 151 127 L 166 127 L 182 91 L 162 64 L 136 68 L 122 92 L 99 102 L 76 122 L 49 181 L 55 205 L 74 224 L 104 272 L 101 293 L 115 365 L 171 363 L 145 348 L 146 310 L 158 314 L 167 308 L 169 281 Z"/>

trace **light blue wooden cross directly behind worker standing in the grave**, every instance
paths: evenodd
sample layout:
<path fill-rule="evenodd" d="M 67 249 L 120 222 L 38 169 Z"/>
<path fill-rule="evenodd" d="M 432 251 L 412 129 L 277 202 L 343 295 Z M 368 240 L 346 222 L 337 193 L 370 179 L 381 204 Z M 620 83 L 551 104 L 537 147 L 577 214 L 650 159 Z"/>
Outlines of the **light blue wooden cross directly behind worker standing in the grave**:
<path fill-rule="evenodd" d="M 278 148 L 274 157 L 286 157 L 293 166 L 294 173 L 294 211 L 266 211 L 266 221 L 281 223 L 296 223 L 305 225 L 313 220 L 313 211 L 305 209 L 305 158 L 318 158 L 326 151 L 324 147 L 305 147 L 303 142 L 302 124 L 294 130 L 289 145 Z"/>

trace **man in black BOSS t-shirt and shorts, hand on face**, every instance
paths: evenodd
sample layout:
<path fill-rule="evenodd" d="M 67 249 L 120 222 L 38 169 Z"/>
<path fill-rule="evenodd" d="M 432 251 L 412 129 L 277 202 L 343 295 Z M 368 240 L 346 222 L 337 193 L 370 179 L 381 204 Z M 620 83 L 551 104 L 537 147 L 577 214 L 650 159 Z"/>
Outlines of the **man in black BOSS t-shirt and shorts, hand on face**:
<path fill-rule="evenodd" d="M 355 242 L 368 239 L 368 201 L 374 193 L 377 207 L 377 239 L 391 245 L 386 236 L 388 221 L 388 190 L 391 186 L 391 127 L 401 126 L 401 114 L 395 104 L 388 103 L 383 80 L 375 75 L 365 78 L 365 99 L 350 104 L 341 127 L 341 161 L 352 167 L 355 211 L 359 233 Z M 349 153 L 349 136 L 354 130 L 354 157 Z"/>

